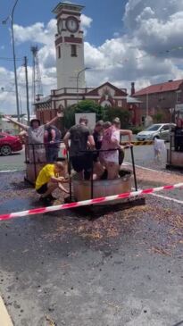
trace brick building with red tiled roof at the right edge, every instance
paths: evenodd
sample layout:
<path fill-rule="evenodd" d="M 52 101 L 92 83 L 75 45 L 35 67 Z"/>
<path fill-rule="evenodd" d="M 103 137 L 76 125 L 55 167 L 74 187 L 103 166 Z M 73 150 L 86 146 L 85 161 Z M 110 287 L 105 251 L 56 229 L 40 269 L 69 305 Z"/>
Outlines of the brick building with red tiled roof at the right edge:
<path fill-rule="evenodd" d="M 163 122 L 169 122 L 176 106 L 183 104 L 183 79 L 148 86 L 134 92 L 133 96 L 141 101 L 142 121 L 146 115 L 153 117 L 154 114 L 161 113 Z"/>

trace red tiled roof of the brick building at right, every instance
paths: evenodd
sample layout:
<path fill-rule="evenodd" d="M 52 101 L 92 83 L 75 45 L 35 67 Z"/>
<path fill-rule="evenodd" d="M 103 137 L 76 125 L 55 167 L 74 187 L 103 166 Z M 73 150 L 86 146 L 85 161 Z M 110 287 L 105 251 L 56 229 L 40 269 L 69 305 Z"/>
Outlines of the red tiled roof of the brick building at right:
<path fill-rule="evenodd" d="M 183 83 L 183 79 L 179 79 L 179 80 L 167 81 L 162 84 L 151 85 L 148 86 L 147 88 L 138 90 L 133 96 L 142 96 L 146 94 L 170 92 L 171 90 L 179 89 L 179 86 L 182 83 Z"/>

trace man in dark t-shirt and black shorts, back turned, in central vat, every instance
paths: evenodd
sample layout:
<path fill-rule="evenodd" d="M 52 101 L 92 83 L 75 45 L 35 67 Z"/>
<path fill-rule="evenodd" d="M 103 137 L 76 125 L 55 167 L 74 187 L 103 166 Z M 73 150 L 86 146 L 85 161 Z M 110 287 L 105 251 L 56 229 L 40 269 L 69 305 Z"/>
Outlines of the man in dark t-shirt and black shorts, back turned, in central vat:
<path fill-rule="evenodd" d="M 79 124 L 71 127 L 63 138 L 66 149 L 69 150 L 71 165 L 79 173 L 81 180 L 89 179 L 92 170 L 92 157 L 88 146 L 94 148 L 95 142 L 86 125 L 86 118 L 81 117 Z M 71 139 L 71 146 L 69 146 Z"/>

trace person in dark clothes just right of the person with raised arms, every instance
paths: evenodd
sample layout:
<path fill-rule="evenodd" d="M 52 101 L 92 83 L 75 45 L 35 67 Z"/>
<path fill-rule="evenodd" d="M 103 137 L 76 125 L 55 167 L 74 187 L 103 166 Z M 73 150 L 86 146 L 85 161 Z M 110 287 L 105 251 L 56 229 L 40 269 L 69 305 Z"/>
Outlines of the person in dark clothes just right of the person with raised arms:
<path fill-rule="evenodd" d="M 61 144 L 61 131 L 54 125 L 46 125 L 45 128 L 45 146 L 46 146 L 46 162 L 54 163 L 58 158 L 59 148 Z"/>

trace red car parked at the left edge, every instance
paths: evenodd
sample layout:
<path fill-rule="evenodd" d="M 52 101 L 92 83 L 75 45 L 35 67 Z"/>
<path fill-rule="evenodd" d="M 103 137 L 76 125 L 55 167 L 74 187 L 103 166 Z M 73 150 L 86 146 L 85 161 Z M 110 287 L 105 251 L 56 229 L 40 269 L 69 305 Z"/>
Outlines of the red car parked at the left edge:
<path fill-rule="evenodd" d="M 12 152 L 21 151 L 21 139 L 5 132 L 0 132 L 0 155 L 11 155 Z"/>

